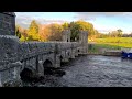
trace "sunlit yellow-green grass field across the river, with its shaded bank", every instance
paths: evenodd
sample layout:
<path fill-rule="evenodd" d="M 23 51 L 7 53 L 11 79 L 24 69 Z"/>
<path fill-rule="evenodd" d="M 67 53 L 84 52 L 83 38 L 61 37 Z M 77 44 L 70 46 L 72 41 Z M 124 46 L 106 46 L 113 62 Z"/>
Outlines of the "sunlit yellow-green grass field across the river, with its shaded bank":
<path fill-rule="evenodd" d="M 96 38 L 94 42 L 89 42 L 88 47 L 89 53 L 99 53 L 100 50 L 102 48 L 107 50 L 132 48 L 132 37 Z"/>

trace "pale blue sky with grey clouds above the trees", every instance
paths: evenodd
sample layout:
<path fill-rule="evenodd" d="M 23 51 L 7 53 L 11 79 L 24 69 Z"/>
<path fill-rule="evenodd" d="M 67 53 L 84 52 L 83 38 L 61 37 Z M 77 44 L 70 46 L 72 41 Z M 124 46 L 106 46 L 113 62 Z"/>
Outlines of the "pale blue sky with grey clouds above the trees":
<path fill-rule="evenodd" d="M 29 28 L 33 19 L 41 24 L 63 23 L 85 20 L 94 24 L 99 32 L 121 29 L 132 32 L 132 12 L 15 12 L 16 24 Z"/>

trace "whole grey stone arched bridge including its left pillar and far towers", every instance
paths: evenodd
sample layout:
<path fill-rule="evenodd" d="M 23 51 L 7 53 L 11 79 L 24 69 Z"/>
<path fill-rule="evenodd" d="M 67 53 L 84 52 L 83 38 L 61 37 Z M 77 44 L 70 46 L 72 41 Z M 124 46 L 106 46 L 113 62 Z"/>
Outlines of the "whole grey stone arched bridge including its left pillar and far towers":
<path fill-rule="evenodd" d="M 0 13 L 0 86 L 19 82 L 23 72 L 44 76 L 45 68 L 59 68 L 88 52 L 88 34 L 80 31 L 79 41 L 70 42 L 70 31 L 63 31 L 62 42 L 20 42 L 15 36 L 15 13 Z"/>

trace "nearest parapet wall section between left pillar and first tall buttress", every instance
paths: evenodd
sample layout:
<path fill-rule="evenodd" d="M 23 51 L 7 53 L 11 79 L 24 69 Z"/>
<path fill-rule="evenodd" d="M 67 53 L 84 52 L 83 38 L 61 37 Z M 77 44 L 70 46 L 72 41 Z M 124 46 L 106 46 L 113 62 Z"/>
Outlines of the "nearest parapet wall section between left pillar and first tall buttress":
<path fill-rule="evenodd" d="M 42 43 L 42 42 L 24 42 L 19 44 L 19 59 L 26 59 L 33 56 L 37 56 L 44 53 L 55 51 L 55 43 Z"/>

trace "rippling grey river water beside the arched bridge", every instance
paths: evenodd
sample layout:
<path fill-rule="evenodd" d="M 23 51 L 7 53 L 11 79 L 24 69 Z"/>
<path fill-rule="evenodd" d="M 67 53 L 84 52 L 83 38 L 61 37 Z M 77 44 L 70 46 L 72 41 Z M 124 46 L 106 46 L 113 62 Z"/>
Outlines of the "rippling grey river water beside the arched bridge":
<path fill-rule="evenodd" d="M 62 66 L 62 77 L 48 75 L 37 87 L 132 87 L 132 61 L 86 55 Z"/>

